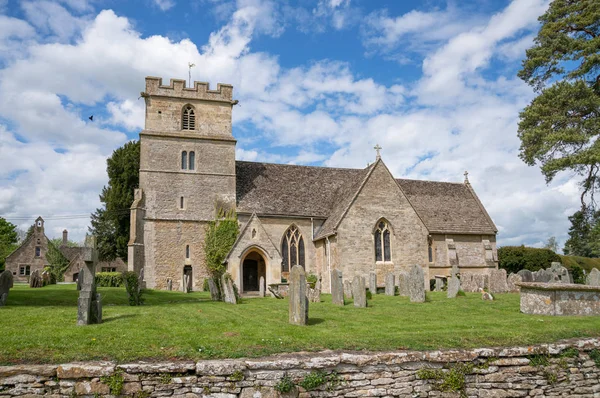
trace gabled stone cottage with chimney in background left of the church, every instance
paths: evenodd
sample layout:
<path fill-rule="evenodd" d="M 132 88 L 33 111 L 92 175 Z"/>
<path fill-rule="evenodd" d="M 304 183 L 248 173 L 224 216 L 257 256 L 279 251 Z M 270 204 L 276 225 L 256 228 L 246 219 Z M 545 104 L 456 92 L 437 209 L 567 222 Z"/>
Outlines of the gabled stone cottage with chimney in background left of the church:
<path fill-rule="evenodd" d="M 72 247 L 68 243 L 68 231 L 63 231 L 62 243 L 58 250 L 69 260 L 69 266 L 64 274 L 65 282 L 76 282 L 79 270 L 83 267 L 83 248 Z M 40 273 L 50 264 L 46 259 L 50 239 L 44 231 L 44 219 L 38 217 L 33 225 L 33 233 L 14 252 L 6 257 L 6 269 L 11 271 L 15 282 L 28 282 L 29 275 L 35 270 Z M 113 261 L 101 261 L 97 272 L 124 272 L 127 264 L 120 258 Z"/>

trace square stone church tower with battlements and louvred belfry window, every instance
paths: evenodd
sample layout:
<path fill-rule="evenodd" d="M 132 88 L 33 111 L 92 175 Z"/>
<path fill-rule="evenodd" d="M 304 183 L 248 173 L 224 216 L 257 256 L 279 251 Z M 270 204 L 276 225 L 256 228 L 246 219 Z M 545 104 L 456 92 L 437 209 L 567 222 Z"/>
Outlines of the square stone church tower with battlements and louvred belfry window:
<path fill-rule="evenodd" d="M 140 188 L 131 207 L 129 270 L 144 268 L 147 287 L 201 289 L 207 276 L 206 223 L 235 209 L 233 87 L 146 77 L 140 133 Z M 184 286 L 185 285 L 185 286 Z"/>

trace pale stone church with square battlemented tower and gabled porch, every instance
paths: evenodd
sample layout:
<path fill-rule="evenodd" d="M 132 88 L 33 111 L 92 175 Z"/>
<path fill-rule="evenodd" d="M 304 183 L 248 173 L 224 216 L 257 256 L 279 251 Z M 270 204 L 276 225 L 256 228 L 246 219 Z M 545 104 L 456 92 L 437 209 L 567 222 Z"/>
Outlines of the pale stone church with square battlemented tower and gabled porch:
<path fill-rule="evenodd" d="M 292 266 L 322 278 L 376 272 L 383 284 L 413 264 L 425 278 L 488 273 L 498 266 L 497 228 L 468 179 L 395 178 L 379 156 L 364 169 L 235 160 L 233 87 L 146 78 L 140 133 L 140 188 L 131 206 L 129 269 L 144 268 L 149 288 L 202 289 L 204 235 L 216 209 L 235 209 L 240 234 L 226 258 L 240 291 L 259 279 L 281 284 Z M 429 286 L 428 281 L 424 281 Z"/>

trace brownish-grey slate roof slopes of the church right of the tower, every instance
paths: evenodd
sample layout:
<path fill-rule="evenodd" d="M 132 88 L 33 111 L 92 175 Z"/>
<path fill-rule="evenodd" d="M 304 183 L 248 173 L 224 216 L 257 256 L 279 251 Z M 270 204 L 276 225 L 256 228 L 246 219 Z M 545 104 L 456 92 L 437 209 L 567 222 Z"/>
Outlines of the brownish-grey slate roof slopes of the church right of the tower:
<path fill-rule="evenodd" d="M 236 161 L 237 211 L 326 219 L 315 238 L 335 232 L 368 178 L 365 169 Z M 430 232 L 494 234 L 493 221 L 469 185 L 397 179 Z"/>

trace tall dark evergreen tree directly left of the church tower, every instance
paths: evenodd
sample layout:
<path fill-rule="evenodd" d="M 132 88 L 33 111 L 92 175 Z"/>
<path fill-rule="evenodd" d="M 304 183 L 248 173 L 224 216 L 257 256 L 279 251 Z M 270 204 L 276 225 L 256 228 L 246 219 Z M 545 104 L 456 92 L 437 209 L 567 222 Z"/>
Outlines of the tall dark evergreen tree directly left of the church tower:
<path fill-rule="evenodd" d="M 130 207 L 139 186 L 140 143 L 128 142 L 106 161 L 108 185 L 102 188 L 103 208 L 92 214 L 91 234 L 96 235 L 101 260 L 127 259 Z"/>

